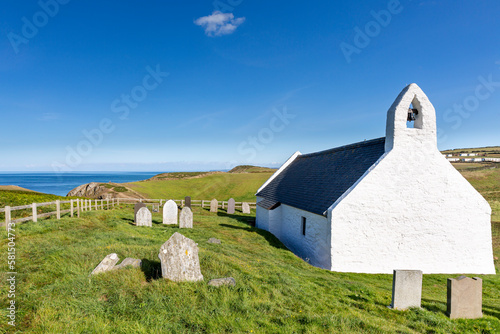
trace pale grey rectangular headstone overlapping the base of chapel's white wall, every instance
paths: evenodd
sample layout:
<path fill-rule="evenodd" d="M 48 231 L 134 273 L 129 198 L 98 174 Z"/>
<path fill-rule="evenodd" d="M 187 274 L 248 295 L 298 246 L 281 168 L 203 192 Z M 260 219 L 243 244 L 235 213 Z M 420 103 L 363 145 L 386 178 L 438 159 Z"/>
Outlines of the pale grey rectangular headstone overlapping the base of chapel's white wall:
<path fill-rule="evenodd" d="M 422 299 L 422 271 L 394 270 L 391 308 L 406 310 L 420 307 Z"/>

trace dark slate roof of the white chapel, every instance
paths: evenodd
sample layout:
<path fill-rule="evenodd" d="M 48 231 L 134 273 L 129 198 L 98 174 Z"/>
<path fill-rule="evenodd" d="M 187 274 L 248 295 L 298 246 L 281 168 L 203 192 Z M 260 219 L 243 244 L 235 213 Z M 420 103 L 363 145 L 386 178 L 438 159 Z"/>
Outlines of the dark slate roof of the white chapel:
<path fill-rule="evenodd" d="M 299 155 L 256 195 L 268 210 L 281 204 L 323 215 L 385 153 L 385 138 Z"/>

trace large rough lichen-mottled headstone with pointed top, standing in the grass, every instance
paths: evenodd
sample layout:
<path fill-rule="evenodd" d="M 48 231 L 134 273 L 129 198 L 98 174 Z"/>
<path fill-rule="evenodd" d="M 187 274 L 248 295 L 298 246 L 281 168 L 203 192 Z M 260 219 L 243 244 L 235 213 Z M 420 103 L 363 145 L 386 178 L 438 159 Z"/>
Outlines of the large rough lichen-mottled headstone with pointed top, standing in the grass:
<path fill-rule="evenodd" d="M 197 244 L 175 232 L 160 248 L 158 254 L 163 278 L 174 282 L 202 281 Z"/>

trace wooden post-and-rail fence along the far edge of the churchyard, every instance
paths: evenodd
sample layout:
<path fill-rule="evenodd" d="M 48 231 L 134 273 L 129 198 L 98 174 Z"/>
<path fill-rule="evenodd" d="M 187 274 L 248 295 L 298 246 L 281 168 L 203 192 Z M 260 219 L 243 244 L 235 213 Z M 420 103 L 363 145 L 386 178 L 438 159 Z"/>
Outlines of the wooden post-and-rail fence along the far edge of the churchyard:
<path fill-rule="evenodd" d="M 1 223 L 0 226 L 5 225 L 5 228 L 8 230 L 10 224 L 15 223 L 23 223 L 26 221 L 37 222 L 39 218 L 45 218 L 50 216 L 56 216 L 57 219 L 61 219 L 62 214 L 69 213 L 70 217 L 73 217 L 76 213 L 77 217 L 80 217 L 80 212 L 83 211 L 92 211 L 92 210 L 109 210 L 115 207 L 115 205 L 120 204 L 135 204 L 135 203 L 145 203 L 145 204 L 156 204 L 158 203 L 160 206 L 163 205 L 163 202 L 167 200 L 164 199 L 135 199 L 135 198 L 112 198 L 112 199 L 71 199 L 68 201 L 54 201 L 54 202 L 45 202 L 45 203 L 32 203 L 28 205 L 20 205 L 20 206 L 6 206 L 5 208 L 0 208 L 0 213 L 5 213 L 5 222 Z M 184 206 L 184 200 L 174 199 L 173 200 L 180 207 Z M 242 208 L 244 202 L 236 202 L 235 206 Z M 246 202 L 250 206 L 250 208 L 255 208 L 255 202 Z M 69 204 L 69 209 L 61 210 L 62 204 Z M 56 206 L 56 211 L 46 212 L 46 213 L 38 213 L 38 208 L 46 207 L 50 205 Z M 210 200 L 191 200 L 191 206 L 201 206 L 210 207 Z M 217 207 L 226 208 L 227 201 L 218 201 Z M 12 212 L 18 210 L 32 210 L 32 215 L 29 217 L 12 219 Z"/>

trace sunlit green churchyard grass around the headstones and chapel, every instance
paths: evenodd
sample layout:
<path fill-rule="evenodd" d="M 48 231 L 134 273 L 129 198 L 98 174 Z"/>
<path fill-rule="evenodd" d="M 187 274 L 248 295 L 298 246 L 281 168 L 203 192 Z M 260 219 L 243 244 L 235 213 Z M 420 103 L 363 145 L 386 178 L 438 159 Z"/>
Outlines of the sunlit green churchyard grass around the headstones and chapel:
<path fill-rule="evenodd" d="M 312 267 L 273 235 L 249 225 L 254 212 L 228 215 L 194 209 L 204 282 L 160 278 L 158 250 L 179 229 L 132 225 L 131 206 L 81 218 L 22 224 L 17 233 L 18 332 L 26 333 L 499 333 L 500 276 L 483 279 L 484 317 L 450 320 L 446 279 L 425 275 L 422 309 L 393 311 L 392 276 L 335 273 Z M 499 254 L 500 224 L 494 225 Z M 208 238 L 221 245 L 207 243 Z M 6 247 L 3 239 L 2 249 Z M 89 277 L 110 253 L 140 258 L 142 269 Z M 2 262 L 5 265 L 5 261 Z M 5 267 L 3 267 L 5 268 Z M 499 262 L 496 261 L 497 272 Z M 2 270 L 5 272 L 5 270 Z M 6 275 L 2 275 L 5 282 Z M 234 277 L 236 287 L 208 280 Z M 0 330 L 6 324 L 3 284 Z"/>

